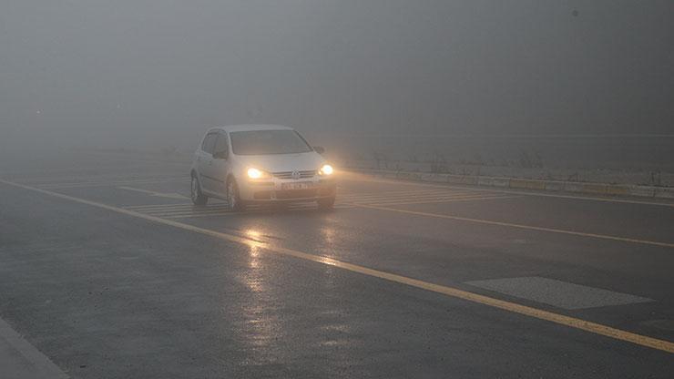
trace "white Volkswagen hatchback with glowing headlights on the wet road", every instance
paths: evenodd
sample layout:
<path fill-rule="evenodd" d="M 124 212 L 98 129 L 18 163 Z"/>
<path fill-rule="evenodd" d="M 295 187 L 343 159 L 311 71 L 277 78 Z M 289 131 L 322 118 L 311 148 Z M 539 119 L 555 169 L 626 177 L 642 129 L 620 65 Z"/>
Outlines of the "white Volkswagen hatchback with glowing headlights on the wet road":
<path fill-rule="evenodd" d="M 322 151 L 292 128 L 210 128 L 192 161 L 192 202 L 205 205 L 212 197 L 240 211 L 251 203 L 317 201 L 330 209 L 337 186 Z"/>

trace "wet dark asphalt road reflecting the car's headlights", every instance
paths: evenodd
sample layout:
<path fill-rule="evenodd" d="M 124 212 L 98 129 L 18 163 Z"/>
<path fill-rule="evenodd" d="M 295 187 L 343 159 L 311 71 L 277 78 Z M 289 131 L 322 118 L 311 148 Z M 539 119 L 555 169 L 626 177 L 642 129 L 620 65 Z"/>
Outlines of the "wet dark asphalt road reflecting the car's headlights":
<path fill-rule="evenodd" d="M 5 165 L 0 318 L 73 378 L 674 373 L 674 203 L 341 173 L 230 213 L 188 168 Z"/>

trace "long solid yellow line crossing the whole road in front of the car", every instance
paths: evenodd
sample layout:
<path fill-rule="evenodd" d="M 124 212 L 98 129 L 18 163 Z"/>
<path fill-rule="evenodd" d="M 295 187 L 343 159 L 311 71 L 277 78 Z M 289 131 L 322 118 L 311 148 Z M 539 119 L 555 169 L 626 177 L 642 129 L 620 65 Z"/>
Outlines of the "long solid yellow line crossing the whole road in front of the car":
<path fill-rule="evenodd" d="M 603 325 L 603 324 L 600 324 L 600 323 L 592 323 L 592 322 L 588 322 L 586 320 L 577 319 L 575 317 L 567 316 L 567 315 L 564 315 L 564 314 L 549 312 L 549 311 L 545 311 L 545 310 L 542 310 L 542 309 L 537 309 L 537 308 L 534 308 L 534 307 L 530 307 L 530 306 L 526 306 L 526 305 L 522 305 L 522 304 L 517 304 L 516 302 L 506 302 L 504 300 L 499 300 L 499 299 L 489 297 L 489 296 L 485 296 L 485 295 L 481 295 L 481 294 L 478 294 L 478 293 L 475 293 L 475 292 L 468 292 L 468 291 L 460 290 L 460 289 L 454 288 L 454 287 L 444 286 L 444 285 L 440 285 L 440 284 L 434 284 L 434 283 L 431 283 L 431 282 L 424 282 L 424 281 L 420 281 L 418 279 L 408 278 L 408 277 L 398 275 L 398 274 L 394 274 L 394 273 L 391 273 L 391 272 L 369 269 L 367 267 L 359 266 L 357 264 L 348 263 L 348 262 L 345 262 L 345 261 L 338 261 L 338 260 L 335 260 L 335 259 L 332 259 L 332 258 L 322 257 L 320 255 L 309 254 L 309 253 L 302 252 L 302 251 L 287 249 L 287 248 L 283 248 L 283 247 L 280 247 L 280 246 L 271 245 L 271 244 L 266 243 L 266 242 L 256 241 L 256 240 L 253 240 L 253 239 L 250 239 L 250 238 L 240 237 L 240 236 L 233 235 L 233 234 L 222 233 L 220 231 L 215 231 L 215 230 L 199 228 L 199 227 L 194 226 L 194 225 L 189 225 L 189 224 L 174 221 L 174 220 L 161 219 L 161 218 L 158 218 L 158 217 L 149 216 L 147 214 L 138 213 L 138 212 L 133 211 L 133 210 L 125 210 L 125 209 L 122 209 L 122 208 L 117 208 L 117 207 L 107 205 L 107 204 L 103 204 L 103 203 L 99 203 L 99 202 L 96 202 L 96 201 L 79 199 L 79 198 L 64 195 L 64 194 L 61 194 L 61 193 L 52 192 L 52 191 L 49 191 L 49 190 L 46 190 L 46 189 L 37 189 L 35 187 L 30 187 L 30 186 L 26 186 L 26 185 L 23 185 L 23 184 L 5 181 L 5 180 L 2 180 L 2 179 L 0 179 L 0 182 L 5 183 L 5 184 L 10 185 L 10 186 L 17 187 L 17 188 L 28 189 L 28 190 L 40 192 L 40 193 L 43 193 L 43 194 L 46 194 L 46 195 L 49 195 L 49 196 L 53 196 L 53 197 L 56 197 L 56 198 L 59 198 L 59 199 L 71 200 L 71 201 L 78 202 L 80 204 L 87 204 L 87 205 L 97 207 L 97 208 L 100 208 L 100 209 L 111 210 L 111 211 L 114 211 L 114 212 L 117 212 L 117 213 L 120 213 L 120 214 L 125 214 L 125 215 L 128 215 L 128 216 L 136 217 L 138 219 L 148 220 L 148 221 L 152 221 L 152 222 L 155 222 L 155 223 L 158 223 L 158 224 L 172 226 L 174 228 L 178 228 L 178 229 L 181 229 L 181 230 L 189 230 L 189 231 L 192 231 L 192 232 L 195 232 L 195 233 L 199 233 L 199 234 L 207 235 L 207 236 L 210 236 L 210 237 L 218 238 L 220 240 L 231 241 L 231 242 L 244 244 L 244 245 L 254 247 L 254 248 L 260 248 L 261 251 L 275 252 L 275 253 L 287 255 L 287 256 L 298 258 L 298 259 L 305 260 L 305 261 L 314 261 L 314 262 L 326 264 L 326 265 L 329 265 L 329 266 L 337 267 L 337 268 L 340 268 L 342 270 L 358 272 L 358 273 L 361 273 L 363 275 L 367 275 L 367 276 L 370 276 L 370 277 L 373 277 L 373 278 L 379 278 L 379 279 L 383 279 L 383 280 L 389 281 L 389 282 L 396 282 L 396 283 L 400 283 L 400 284 L 405 284 L 405 285 L 408 285 L 408 286 L 411 286 L 411 287 L 423 289 L 423 290 L 430 291 L 430 292 L 442 293 L 444 295 L 451 296 L 451 297 L 454 297 L 454 298 L 457 298 L 457 299 L 463 299 L 463 300 L 468 301 L 468 302 L 475 302 L 475 303 L 478 303 L 478 304 L 483 304 L 483 305 L 487 305 L 487 306 L 490 306 L 490 307 L 502 309 L 502 310 L 505 310 L 505 311 L 508 311 L 508 312 L 516 312 L 516 313 L 523 314 L 523 315 L 533 317 L 533 318 L 536 318 L 536 319 L 545 320 L 545 321 L 548 321 L 548 322 L 551 322 L 551 323 L 557 323 L 557 324 L 560 324 L 560 325 L 565 325 L 565 326 L 568 326 L 568 327 L 571 327 L 571 328 L 574 328 L 574 329 L 578 329 L 578 330 L 582 330 L 582 331 L 586 331 L 586 332 L 589 332 L 589 333 L 596 333 L 596 334 L 603 335 L 603 336 L 606 336 L 606 337 L 614 338 L 614 339 L 617 339 L 619 341 L 624 341 L 624 342 L 628 342 L 628 343 L 635 343 L 635 344 L 638 344 L 638 345 L 641 345 L 641 346 L 649 347 L 649 348 L 652 348 L 652 349 L 657 349 L 657 350 L 667 352 L 667 353 L 674 353 L 674 343 L 671 343 L 671 342 L 665 341 L 665 340 L 659 340 L 659 339 L 653 338 L 653 337 L 648 337 L 646 335 L 631 333 L 631 332 L 628 332 L 628 331 L 612 328 L 610 326 Z"/>

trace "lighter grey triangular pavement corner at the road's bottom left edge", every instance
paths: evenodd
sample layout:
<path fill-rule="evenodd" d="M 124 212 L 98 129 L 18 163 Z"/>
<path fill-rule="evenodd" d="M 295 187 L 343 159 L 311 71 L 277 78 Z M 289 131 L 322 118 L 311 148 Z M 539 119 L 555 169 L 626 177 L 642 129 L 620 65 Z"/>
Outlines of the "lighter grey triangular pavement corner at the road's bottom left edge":
<path fill-rule="evenodd" d="M 8 378 L 67 379 L 68 375 L 0 319 L 0 375 Z"/>

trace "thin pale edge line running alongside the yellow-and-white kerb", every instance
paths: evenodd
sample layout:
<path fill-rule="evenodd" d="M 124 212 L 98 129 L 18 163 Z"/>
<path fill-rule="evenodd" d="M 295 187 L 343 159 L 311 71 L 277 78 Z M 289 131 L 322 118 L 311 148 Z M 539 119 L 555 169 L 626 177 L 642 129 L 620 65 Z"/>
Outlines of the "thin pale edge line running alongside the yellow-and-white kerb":
<path fill-rule="evenodd" d="M 349 179 L 347 179 L 349 180 Z M 447 184 L 434 184 L 419 182 L 413 180 L 403 180 L 403 179 L 373 179 L 373 178 L 359 178 L 361 181 L 370 181 L 373 183 L 388 183 L 396 185 L 408 185 L 408 186 L 420 186 L 420 187 L 430 187 L 436 189 L 472 189 L 476 191 L 485 191 L 485 192 L 501 192 L 501 193 L 512 193 L 516 195 L 527 195 L 527 196 L 538 196 L 544 198 L 560 198 L 560 199 L 573 199 L 573 200 L 590 200 L 590 201 L 606 201 L 606 202 L 618 202 L 618 203 L 627 203 L 627 204 L 643 204 L 643 205 L 656 205 L 660 207 L 674 207 L 674 202 L 659 202 L 659 201 L 645 201 L 645 200 L 627 200 L 627 199 L 615 199 L 615 198 L 598 198 L 596 196 L 577 196 L 577 195 L 562 195 L 556 193 L 542 193 L 536 191 L 524 191 L 524 190 L 512 190 L 512 189 L 498 189 L 498 188 L 477 188 L 477 187 L 468 187 L 466 186 L 455 186 L 449 183 Z M 355 181 L 351 179 L 351 181 Z"/>

